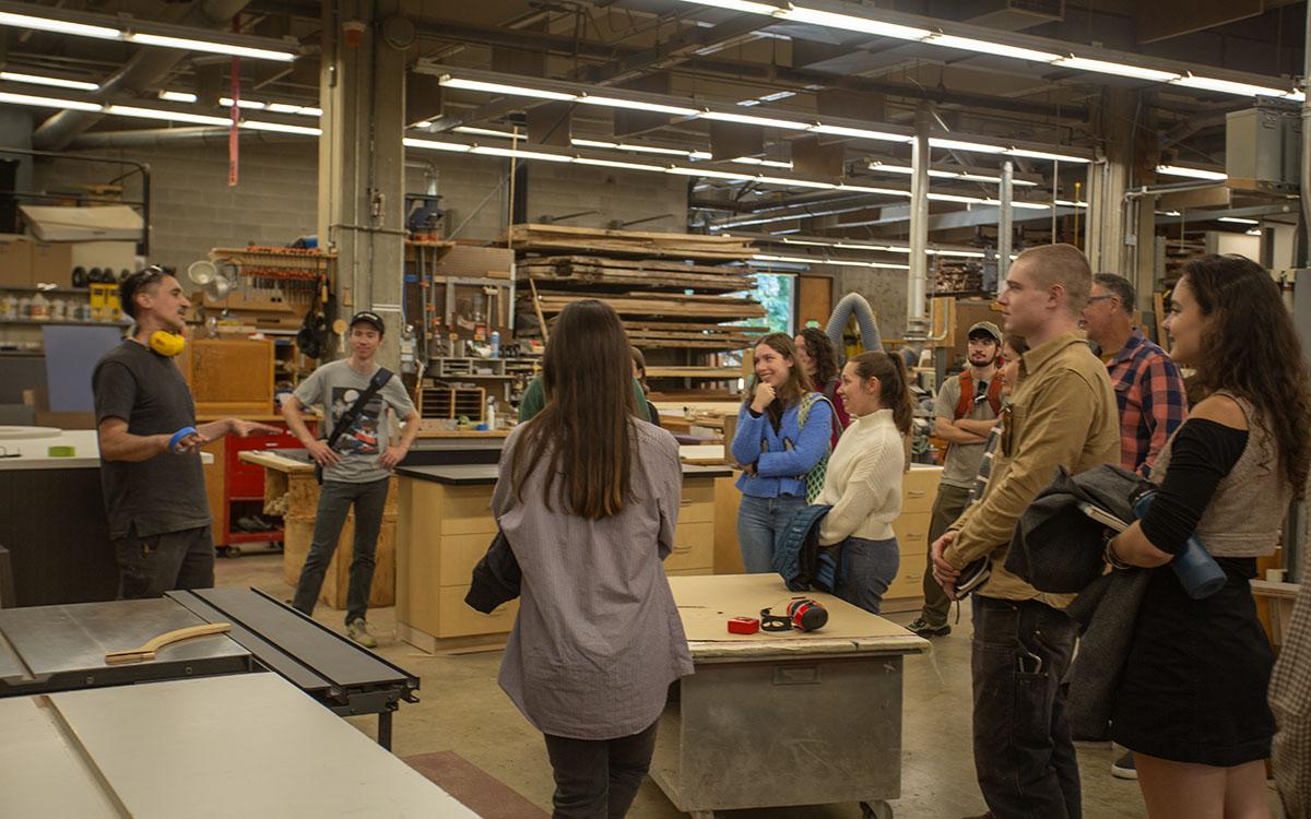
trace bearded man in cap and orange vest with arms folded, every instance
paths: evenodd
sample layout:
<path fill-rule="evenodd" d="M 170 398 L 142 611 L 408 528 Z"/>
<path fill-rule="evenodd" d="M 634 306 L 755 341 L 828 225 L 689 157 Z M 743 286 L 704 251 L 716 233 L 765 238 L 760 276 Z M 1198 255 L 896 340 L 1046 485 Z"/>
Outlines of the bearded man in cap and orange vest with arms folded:
<path fill-rule="evenodd" d="M 991 321 L 979 321 L 969 333 L 969 366 L 947 379 L 937 390 L 933 405 L 937 421 L 933 435 L 948 443 L 943 460 L 943 478 L 933 501 L 933 516 L 928 524 L 928 543 L 943 536 L 969 506 L 970 487 L 979 470 L 979 461 L 987 443 L 987 432 L 1002 413 L 1002 379 L 998 358 L 1002 351 L 1002 330 Z M 945 637 L 952 633 L 947 613 L 952 601 L 933 579 L 932 566 L 924 571 L 924 608 L 909 628 L 920 637 Z"/>

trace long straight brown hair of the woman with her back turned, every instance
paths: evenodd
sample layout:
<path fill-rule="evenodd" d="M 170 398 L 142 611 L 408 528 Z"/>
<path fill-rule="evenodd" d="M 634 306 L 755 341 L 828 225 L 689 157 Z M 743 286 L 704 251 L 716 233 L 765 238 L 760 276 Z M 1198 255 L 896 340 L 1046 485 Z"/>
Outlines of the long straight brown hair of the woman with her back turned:
<path fill-rule="evenodd" d="M 631 493 L 633 363 L 628 335 L 610 305 L 585 299 L 556 320 L 541 363 L 547 406 L 514 449 L 514 494 L 545 460 L 544 499 L 560 478 L 560 502 L 579 518 L 617 515 Z"/>

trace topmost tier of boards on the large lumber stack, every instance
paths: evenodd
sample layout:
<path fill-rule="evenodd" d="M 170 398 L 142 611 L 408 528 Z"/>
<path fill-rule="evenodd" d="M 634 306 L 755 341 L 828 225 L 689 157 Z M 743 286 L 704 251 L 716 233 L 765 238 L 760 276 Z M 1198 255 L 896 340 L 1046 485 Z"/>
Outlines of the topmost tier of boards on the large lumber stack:
<path fill-rule="evenodd" d="M 515 250 L 583 252 L 620 258 L 734 261 L 751 257 L 751 240 L 737 236 L 603 231 L 558 224 L 517 224 L 507 236 Z"/>

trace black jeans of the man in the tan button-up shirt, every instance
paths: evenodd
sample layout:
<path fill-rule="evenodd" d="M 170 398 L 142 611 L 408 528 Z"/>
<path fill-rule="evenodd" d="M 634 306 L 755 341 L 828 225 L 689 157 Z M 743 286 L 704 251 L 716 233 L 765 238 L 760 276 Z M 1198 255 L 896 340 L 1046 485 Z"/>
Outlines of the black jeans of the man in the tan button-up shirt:
<path fill-rule="evenodd" d="M 975 595 L 974 769 L 996 819 L 1079 819 L 1079 763 L 1061 687 L 1076 626 L 1037 600 Z"/>

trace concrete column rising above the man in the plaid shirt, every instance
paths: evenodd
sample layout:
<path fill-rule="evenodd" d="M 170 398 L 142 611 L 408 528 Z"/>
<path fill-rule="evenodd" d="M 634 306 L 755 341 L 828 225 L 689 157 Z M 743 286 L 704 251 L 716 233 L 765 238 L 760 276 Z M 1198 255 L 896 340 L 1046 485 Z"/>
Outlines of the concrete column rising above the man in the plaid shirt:
<path fill-rule="evenodd" d="M 1089 174 L 1088 262 L 1093 273 L 1131 274 L 1125 245 L 1125 193 L 1134 164 L 1135 92 L 1105 88 L 1095 126 L 1104 145 L 1103 164 Z"/>

